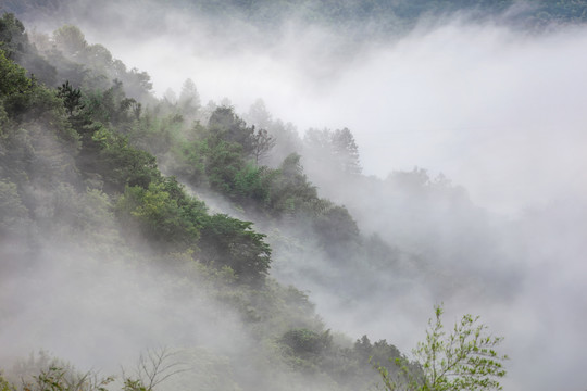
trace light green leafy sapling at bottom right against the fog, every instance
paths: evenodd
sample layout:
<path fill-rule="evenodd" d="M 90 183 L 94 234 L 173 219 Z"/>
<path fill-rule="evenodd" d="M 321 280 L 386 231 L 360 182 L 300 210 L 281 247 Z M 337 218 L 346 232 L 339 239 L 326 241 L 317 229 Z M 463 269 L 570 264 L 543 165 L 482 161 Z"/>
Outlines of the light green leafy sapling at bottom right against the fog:
<path fill-rule="evenodd" d="M 501 390 L 499 379 L 505 376 L 503 361 L 508 356 L 500 355 L 496 346 L 503 338 L 487 335 L 487 326 L 472 315 L 464 315 L 447 335 L 441 315 L 442 307 L 436 306 L 436 319 L 428 321 L 426 340 L 413 351 L 422 375 L 414 373 L 404 357 L 396 360 L 400 368 L 397 377 L 376 365 L 386 390 L 402 387 L 420 391 Z"/>

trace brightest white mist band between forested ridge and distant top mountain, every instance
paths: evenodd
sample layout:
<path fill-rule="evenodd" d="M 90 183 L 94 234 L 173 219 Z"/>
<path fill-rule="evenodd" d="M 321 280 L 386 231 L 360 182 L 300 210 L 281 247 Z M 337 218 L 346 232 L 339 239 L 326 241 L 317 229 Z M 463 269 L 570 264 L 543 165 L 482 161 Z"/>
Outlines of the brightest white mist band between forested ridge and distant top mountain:
<path fill-rule="evenodd" d="M 577 180 L 587 168 L 584 28 L 528 36 L 455 23 L 340 54 L 325 31 L 292 27 L 263 50 L 215 40 L 185 17 L 167 17 L 167 29 L 142 40 L 88 36 L 147 70 L 160 93 L 191 77 L 203 102 L 227 97 L 245 112 L 262 98 L 302 131 L 349 127 L 365 174 L 441 172 L 502 213 L 587 191 Z"/>

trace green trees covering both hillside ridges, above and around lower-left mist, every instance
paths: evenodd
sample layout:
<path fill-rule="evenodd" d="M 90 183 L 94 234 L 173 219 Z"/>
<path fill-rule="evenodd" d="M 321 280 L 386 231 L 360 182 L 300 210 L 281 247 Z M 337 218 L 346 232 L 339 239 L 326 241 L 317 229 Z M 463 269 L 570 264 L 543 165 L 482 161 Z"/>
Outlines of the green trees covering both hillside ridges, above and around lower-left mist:
<path fill-rule="evenodd" d="M 247 338 L 257 344 L 249 353 L 255 358 L 246 368 L 230 362 L 217 370 L 230 367 L 232 376 L 222 374 L 223 384 L 243 389 L 271 387 L 277 371 L 358 389 L 376 376 L 370 356 L 400 356 L 386 341 L 335 341 L 305 293 L 268 277 L 266 235 L 251 222 L 211 213 L 177 179 L 222 194 L 265 222 L 288 219 L 298 240 L 312 239 L 336 262 L 358 260 L 366 248 L 357 224 L 345 207 L 317 195 L 300 155 L 288 154 L 276 168 L 261 165 L 275 146 L 267 130 L 247 125 L 232 108 L 200 108 L 189 81 L 177 102 L 155 100 L 148 75 L 126 72 L 74 26 L 37 37 L 50 45 L 36 46 L 23 24 L 4 14 L 0 34 L 4 282 L 30 267 L 52 267 L 67 253 L 80 254 L 74 267 L 115 264 L 128 273 L 154 267 L 174 294 L 187 289 L 239 314 Z M 339 154 L 353 144 L 348 129 L 323 136 Z M 158 161 L 177 177 L 163 175 Z M 192 292 L 204 287 L 204 293 Z M 17 311 L 3 311 L 1 321 L 10 323 Z M 75 369 L 39 360 L 7 376 L 13 384 L 11 376 L 34 376 L 24 384 L 27 390 L 103 387 L 83 376 L 74 381 Z M 273 369 L 264 362 L 275 362 Z M 250 366 L 263 368 L 263 378 L 250 379 Z M 126 378 L 123 388 L 145 387 L 133 381 Z M 3 390 L 12 387 L 2 382 Z"/>

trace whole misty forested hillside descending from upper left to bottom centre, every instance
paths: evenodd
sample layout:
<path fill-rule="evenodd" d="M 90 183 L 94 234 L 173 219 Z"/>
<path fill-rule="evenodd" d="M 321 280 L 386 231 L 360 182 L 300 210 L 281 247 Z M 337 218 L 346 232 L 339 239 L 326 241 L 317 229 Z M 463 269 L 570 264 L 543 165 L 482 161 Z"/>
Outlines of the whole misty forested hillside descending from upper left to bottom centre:
<path fill-rule="evenodd" d="M 287 220 L 291 239 L 283 240 L 302 251 L 339 263 L 386 253 L 383 242 L 365 245 L 345 207 L 319 197 L 299 155 L 278 168 L 262 165 L 275 144 L 265 129 L 248 126 L 232 108 L 203 110 L 189 81 L 176 104 L 157 100 L 146 73 L 126 71 L 74 26 L 33 45 L 22 23 L 4 14 L 0 33 L 1 283 L 14 294 L 2 307 L 3 330 L 18 325 L 35 343 L 61 329 L 77 341 L 74 356 L 100 338 L 125 338 L 111 357 L 99 353 L 89 363 L 107 367 L 133 346 L 165 344 L 173 360 L 182 349 L 182 365 L 199 371 L 182 381 L 223 390 L 360 389 L 376 380 L 370 356 L 384 363 L 400 355 L 386 341 L 363 337 L 353 344 L 332 333 L 304 292 L 270 277 L 267 236 L 248 220 L 210 212 L 177 179 L 262 217 L 265 231 L 277 235 L 277 222 Z M 163 175 L 158 161 L 176 176 Z M 43 308 L 25 321 L 25 302 L 39 295 Z M 90 342 L 79 328 L 100 337 Z M 33 349 L 72 352 L 53 342 Z M 29 353 L 3 343 L 3 360 Z M 146 354 L 161 360 L 168 352 Z M 26 387 L 39 390 L 48 379 L 75 376 L 46 353 L 7 370 L 12 381 L 38 376 L 30 378 L 37 386 Z M 126 389 L 139 387 L 127 381 Z M 291 381 L 297 386 L 286 386 Z"/>

